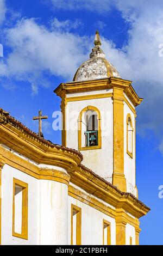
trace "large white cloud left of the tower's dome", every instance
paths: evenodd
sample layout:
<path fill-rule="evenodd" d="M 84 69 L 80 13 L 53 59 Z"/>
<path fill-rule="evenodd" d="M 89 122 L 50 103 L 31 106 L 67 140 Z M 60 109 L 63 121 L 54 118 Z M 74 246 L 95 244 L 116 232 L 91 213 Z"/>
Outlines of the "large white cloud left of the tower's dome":
<path fill-rule="evenodd" d="M 39 26 L 34 19 L 22 19 L 5 31 L 11 48 L 0 62 L 0 76 L 27 80 L 37 93 L 40 84 L 48 84 L 44 72 L 72 80 L 80 62 L 87 58 L 87 38 Z M 38 82 L 40 81 L 40 83 Z"/>

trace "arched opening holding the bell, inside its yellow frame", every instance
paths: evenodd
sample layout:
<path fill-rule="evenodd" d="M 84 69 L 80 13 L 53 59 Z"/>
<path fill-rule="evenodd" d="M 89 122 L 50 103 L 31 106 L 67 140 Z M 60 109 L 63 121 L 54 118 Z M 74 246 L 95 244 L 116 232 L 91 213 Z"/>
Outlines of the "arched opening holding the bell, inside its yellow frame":
<path fill-rule="evenodd" d="M 98 145 L 98 119 L 97 113 L 89 109 L 86 115 L 85 147 Z"/>

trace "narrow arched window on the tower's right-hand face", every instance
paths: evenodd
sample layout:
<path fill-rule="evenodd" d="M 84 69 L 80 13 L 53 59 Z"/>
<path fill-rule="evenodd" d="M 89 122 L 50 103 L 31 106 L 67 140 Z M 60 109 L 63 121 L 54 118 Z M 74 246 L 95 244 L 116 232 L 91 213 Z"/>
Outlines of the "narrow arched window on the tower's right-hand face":
<path fill-rule="evenodd" d="M 133 125 L 131 117 L 127 117 L 127 153 L 133 155 Z"/>

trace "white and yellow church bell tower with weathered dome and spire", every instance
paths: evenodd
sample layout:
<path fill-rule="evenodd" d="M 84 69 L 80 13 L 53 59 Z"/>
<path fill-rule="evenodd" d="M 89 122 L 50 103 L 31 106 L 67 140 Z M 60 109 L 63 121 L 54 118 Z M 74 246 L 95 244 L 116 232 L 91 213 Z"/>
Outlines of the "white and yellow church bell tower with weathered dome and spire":
<path fill-rule="evenodd" d="M 142 98 L 106 60 L 98 32 L 94 44 L 73 82 L 54 90 L 61 97 L 62 145 L 81 151 L 87 168 L 137 197 L 135 107 Z"/>

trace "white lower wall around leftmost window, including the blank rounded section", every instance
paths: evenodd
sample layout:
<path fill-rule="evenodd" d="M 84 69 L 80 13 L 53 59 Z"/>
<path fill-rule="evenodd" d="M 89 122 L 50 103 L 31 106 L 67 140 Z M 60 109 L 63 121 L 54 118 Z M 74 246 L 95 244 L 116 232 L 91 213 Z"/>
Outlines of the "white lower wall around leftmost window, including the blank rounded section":
<path fill-rule="evenodd" d="M 53 169 L 56 169 L 53 166 Z M 28 240 L 12 236 L 13 178 L 28 184 Z M 37 180 L 10 167 L 2 169 L 2 245 L 67 244 L 68 187 Z"/>

